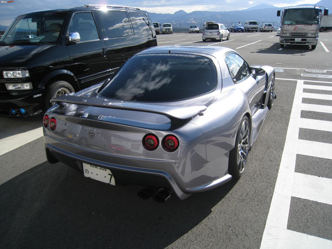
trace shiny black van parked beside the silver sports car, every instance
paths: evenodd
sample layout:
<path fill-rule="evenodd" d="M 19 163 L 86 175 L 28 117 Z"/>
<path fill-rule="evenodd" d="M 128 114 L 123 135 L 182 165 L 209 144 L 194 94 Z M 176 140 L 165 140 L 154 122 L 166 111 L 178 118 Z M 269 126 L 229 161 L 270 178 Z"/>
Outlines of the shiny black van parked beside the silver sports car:
<path fill-rule="evenodd" d="M 0 114 L 41 114 L 51 98 L 107 80 L 151 46 L 153 23 L 137 8 L 85 5 L 20 15 L 0 39 Z"/>

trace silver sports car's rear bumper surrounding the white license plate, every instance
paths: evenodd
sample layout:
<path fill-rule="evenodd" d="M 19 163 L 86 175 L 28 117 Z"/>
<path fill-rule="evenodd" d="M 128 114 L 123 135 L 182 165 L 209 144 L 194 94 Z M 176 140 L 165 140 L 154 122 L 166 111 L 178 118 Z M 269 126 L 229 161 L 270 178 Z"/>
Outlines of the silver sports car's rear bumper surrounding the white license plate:
<path fill-rule="evenodd" d="M 232 178 L 229 174 L 219 176 L 214 173 L 213 177 L 207 177 L 208 181 L 204 181 L 202 182 L 203 184 L 200 183 L 201 185 L 193 187 L 190 185 L 190 180 L 193 179 L 183 178 L 182 171 L 184 169 L 177 171 L 177 169 L 181 169 L 184 166 L 176 164 L 173 160 L 133 158 L 124 155 L 96 152 L 91 148 L 81 148 L 65 144 L 45 133 L 44 141 L 47 160 L 50 163 L 61 161 L 82 173 L 82 162 L 100 166 L 112 171 L 116 184 L 168 188 L 181 200 L 186 199 L 192 193 L 213 189 Z M 61 148 L 56 145 L 61 145 Z M 228 165 L 228 152 L 220 160 L 226 168 Z M 204 178 L 204 176 L 201 176 L 201 178 Z"/>

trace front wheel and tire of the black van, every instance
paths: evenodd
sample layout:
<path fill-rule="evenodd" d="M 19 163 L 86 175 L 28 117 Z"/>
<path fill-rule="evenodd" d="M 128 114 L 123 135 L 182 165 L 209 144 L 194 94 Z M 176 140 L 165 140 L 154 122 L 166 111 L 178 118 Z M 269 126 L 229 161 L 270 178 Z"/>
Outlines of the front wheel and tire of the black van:
<path fill-rule="evenodd" d="M 61 90 L 63 89 L 63 90 Z M 62 94 L 59 94 L 59 91 Z M 75 90 L 67 81 L 59 80 L 51 83 L 45 90 L 44 110 L 50 108 L 53 104 L 49 101 L 63 94 L 74 93 Z"/>

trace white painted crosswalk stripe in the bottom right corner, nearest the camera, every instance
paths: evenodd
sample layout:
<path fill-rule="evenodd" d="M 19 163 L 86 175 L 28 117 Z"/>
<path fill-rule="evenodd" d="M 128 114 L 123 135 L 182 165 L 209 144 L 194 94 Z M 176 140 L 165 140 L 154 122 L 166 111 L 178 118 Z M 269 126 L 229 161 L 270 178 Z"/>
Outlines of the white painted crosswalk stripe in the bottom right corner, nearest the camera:
<path fill-rule="evenodd" d="M 292 249 L 332 248 L 331 240 L 319 238 L 305 233 L 295 232 L 288 229 L 286 229 L 286 237 L 283 243 L 285 243 L 284 248 Z"/>

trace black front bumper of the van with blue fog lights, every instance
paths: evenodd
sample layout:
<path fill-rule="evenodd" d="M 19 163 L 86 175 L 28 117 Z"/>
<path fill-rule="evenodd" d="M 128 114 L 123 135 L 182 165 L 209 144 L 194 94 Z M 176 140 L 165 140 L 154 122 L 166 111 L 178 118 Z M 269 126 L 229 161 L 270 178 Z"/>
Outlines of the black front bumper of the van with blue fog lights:
<path fill-rule="evenodd" d="M 16 93 L 19 93 L 19 95 L 13 95 L 12 92 L 2 92 L 0 94 L 0 115 L 11 117 L 27 117 L 41 113 L 44 88 Z M 41 96 L 36 97 L 38 94 L 41 94 Z M 20 108 L 23 108 L 26 111 L 24 115 L 19 114 Z M 10 114 L 11 109 L 15 110 L 16 115 Z"/>

